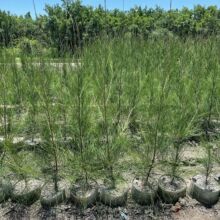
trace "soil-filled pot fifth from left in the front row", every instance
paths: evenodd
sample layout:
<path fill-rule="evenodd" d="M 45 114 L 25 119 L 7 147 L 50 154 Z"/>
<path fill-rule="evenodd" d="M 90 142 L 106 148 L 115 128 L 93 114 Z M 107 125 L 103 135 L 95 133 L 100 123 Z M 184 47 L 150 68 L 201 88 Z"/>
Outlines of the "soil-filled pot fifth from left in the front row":
<path fill-rule="evenodd" d="M 124 206 L 128 197 L 128 184 L 126 182 L 117 182 L 116 186 L 102 186 L 100 188 L 100 201 L 110 207 Z"/>

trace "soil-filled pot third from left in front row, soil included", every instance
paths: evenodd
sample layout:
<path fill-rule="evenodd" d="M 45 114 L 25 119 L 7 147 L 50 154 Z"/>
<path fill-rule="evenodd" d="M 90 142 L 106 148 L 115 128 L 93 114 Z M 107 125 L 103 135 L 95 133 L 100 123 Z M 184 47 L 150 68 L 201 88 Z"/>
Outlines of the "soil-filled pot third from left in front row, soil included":
<path fill-rule="evenodd" d="M 61 187 L 59 191 L 54 190 L 53 184 L 44 187 L 41 193 L 40 203 L 45 209 L 57 206 L 66 201 L 66 190 Z"/>

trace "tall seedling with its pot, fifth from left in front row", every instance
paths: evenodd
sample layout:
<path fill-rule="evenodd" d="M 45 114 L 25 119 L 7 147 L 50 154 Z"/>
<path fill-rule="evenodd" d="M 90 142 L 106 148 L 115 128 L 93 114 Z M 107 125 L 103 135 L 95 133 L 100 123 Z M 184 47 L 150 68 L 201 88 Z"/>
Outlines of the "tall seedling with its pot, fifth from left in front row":
<path fill-rule="evenodd" d="M 114 63 L 110 52 L 112 45 L 99 45 L 99 48 L 96 56 L 100 57 L 101 62 L 93 59 L 93 77 L 95 79 L 93 82 L 95 117 L 97 118 L 95 130 L 98 137 L 96 146 L 98 147 L 99 161 L 102 162 L 102 169 L 105 172 L 104 186 L 100 189 L 100 200 L 109 206 L 122 206 L 127 200 L 128 186 L 117 175 L 115 166 L 122 155 L 123 145 L 126 145 L 126 136 L 122 121 L 120 120 L 117 123 L 119 119 L 119 112 L 117 111 L 119 110 L 119 105 L 113 86 L 115 80 L 119 84 L 120 80 L 116 79 L 115 72 L 113 71 Z M 121 87 L 121 85 L 118 86 Z M 100 164 L 97 165 L 100 166 Z"/>

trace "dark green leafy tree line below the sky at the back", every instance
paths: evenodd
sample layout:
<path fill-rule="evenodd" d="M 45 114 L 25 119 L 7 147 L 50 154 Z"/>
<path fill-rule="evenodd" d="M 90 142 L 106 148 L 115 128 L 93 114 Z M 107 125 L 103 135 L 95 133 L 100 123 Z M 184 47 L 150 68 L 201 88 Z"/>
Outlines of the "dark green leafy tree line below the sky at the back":
<path fill-rule="evenodd" d="M 193 9 L 163 10 L 135 7 L 129 11 L 84 6 L 81 1 L 62 0 L 61 5 L 46 5 L 46 15 L 31 17 L 0 11 L 0 45 L 13 47 L 20 41 L 38 42 L 58 53 L 73 52 L 85 42 L 105 32 L 110 36 L 132 37 L 177 36 L 207 37 L 220 33 L 220 9 L 195 6 Z"/>

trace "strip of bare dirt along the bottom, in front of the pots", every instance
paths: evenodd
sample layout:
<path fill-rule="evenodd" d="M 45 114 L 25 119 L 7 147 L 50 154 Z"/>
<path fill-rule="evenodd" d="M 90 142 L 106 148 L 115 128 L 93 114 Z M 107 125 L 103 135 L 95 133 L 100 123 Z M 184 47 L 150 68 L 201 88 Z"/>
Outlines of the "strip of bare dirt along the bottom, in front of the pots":
<path fill-rule="evenodd" d="M 86 210 L 79 210 L 72 204 L 63 204 L 57 208 L 43 210 L 39 202 L 30 207 L 7 202 L 0 208 L 1 220 L 32 220 L 32 219 L 161 219 L 161 220 L 219 220 L 220 202 L 212 208 L 205 208 L 197 201 L 186 197 L 176 205 L 158 203 L 156 208 L 139 206 L 129 199 L 126 207 L 110 208 L 97 203 L 94 207 Z"/>

